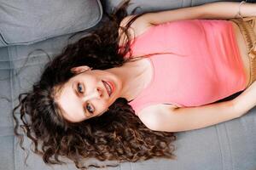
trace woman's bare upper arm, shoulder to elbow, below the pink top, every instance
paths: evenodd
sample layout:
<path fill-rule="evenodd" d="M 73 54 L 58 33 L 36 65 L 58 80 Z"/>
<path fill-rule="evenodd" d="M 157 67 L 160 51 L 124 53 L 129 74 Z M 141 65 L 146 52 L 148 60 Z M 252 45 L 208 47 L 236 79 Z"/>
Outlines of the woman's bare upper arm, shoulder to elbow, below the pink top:
<path fill-rule="evenodd" d="M 138 113 L 141 121 L 155 131 L 180 132 L 212 126 L 240 116 L 232 100 L 197 107 L 149 106 Z"/>

